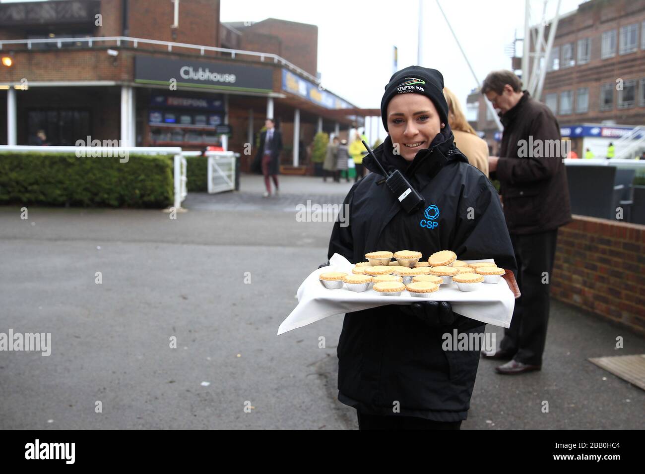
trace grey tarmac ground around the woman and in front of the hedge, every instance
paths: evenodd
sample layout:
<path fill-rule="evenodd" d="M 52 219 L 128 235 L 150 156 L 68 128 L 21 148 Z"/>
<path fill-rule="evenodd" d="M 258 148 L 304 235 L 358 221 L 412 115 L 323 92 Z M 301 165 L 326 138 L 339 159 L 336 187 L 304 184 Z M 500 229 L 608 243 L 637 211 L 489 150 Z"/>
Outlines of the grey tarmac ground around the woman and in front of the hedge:
<path fill-rule="evenodd" d="M 48 357 L 0 352 L 0 428 L 357 428 L 336 399 L 342 315 L 276 336 L 332 230 L 296 206 L 339 204 L 351 183 L 280 179 L 279 197 L 255 175 L 190 193 L 177 219 L 0 206 L 0 332 L 52 334 Z M 552 301 L 542 370 L 481 360 L 462 429 L 642 429 L 644 392 L 588 361 L 639 353 L 639 335 Z"/>

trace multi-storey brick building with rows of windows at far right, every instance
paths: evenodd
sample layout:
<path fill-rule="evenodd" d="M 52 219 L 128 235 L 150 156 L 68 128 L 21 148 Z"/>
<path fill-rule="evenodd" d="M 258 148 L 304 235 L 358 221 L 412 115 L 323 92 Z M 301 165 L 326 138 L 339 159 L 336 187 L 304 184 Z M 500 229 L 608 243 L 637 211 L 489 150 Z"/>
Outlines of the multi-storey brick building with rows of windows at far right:
<path fill-rule="evenodd" d="M 563 137 L 579 156 L 604 157 L 611 140 L 645 124 L 645 0 L 591 0 L 562 16 L 546 70 L 541 101 Z"/>

